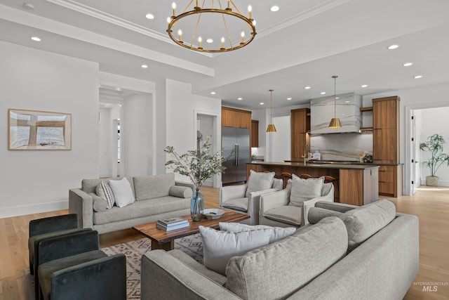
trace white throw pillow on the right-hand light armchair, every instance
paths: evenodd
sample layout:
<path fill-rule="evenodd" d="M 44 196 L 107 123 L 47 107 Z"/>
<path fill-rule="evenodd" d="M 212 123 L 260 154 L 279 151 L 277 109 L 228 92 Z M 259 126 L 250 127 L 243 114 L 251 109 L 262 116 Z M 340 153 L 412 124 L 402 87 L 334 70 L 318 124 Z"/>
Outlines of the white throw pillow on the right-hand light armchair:
<path fill-rule="evenodd" d="M 302 207 L 302 202 L 321 196 L 324 176 L 320 178 L 303 179 L 292 174 L 292 190 L 290 193 L 290 205 Z"/>

